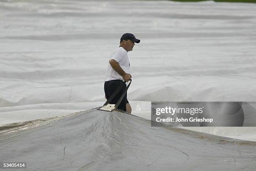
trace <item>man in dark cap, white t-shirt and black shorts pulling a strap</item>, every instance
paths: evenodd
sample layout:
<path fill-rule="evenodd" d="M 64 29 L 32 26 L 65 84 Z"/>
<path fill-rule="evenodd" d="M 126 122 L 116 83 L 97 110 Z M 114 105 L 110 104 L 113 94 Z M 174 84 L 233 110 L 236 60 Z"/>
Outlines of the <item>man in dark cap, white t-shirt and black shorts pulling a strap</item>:
<path fill-rule="evenodd" d="M 110 104 L 116 104 L 120 99 L 120 96 L 123 94 L 126 88 L 124 81 L 131 80 L 130 74 L 130 62 L 128 59 L 127 52 L 133 50 L 135 43 L 140 43 L 140 40 L 135 38 L 131 33 L 125 33 L 120 38 L 120 46 L 115 49 L 110 55 L 110 60 L 108 64 L 108 77 L 105 79 L 104 90 L 105 96 L 108 99 L 113 92 L 123 84 L 122 89 L 110 102 Z M 127 100 L 127 93 L 123 97 L 122 102 L 118 106 L 118 109 L 131 113 L 131 105 Z"/>

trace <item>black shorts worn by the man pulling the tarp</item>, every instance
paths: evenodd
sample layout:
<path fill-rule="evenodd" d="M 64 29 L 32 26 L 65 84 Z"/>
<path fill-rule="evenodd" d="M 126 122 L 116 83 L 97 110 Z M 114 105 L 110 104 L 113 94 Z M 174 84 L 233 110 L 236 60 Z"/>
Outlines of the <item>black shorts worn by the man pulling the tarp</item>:
<path fill-rule="evenodd" d="M 116 94 L 116 96 L 113 98 L 113 100 L 110 101 L 110 104 L 116 104 L 118 102 L 121 95 L 125 91 L 126 84 L 122 80 L 119 80 L 119 79 L 110 80 L 108 82 L 105 82 L 104 91 L 105 91 L 105 95 L 106 95 L 107 99 L 111 96 L 111 94 L 113 94 L 115 92 L 115 90 L 119 87 L 120 84 L 123 84 L 123 87 L 118 92 L 118 94 Z M 126 103 L 129 103 L 127 100 L 127 92 L 125 93 L 123 100 L 121 101 L 120 105 L 117 108 L 121 109 L 123 111 L 126 111 Z"/>

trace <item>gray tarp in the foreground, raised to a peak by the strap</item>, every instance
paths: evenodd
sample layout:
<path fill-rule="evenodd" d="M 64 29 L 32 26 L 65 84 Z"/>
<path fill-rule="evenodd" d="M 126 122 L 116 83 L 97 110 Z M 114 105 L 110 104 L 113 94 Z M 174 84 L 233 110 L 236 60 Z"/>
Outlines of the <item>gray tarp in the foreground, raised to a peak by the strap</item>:
<path fill-rule="evenodd" d="M 256 170 L 253 142 L 151 127 L 141 117 L 96 109 L 2 127 L 0 151 L 0 161 L 27 162 L 26 170 Z"/>

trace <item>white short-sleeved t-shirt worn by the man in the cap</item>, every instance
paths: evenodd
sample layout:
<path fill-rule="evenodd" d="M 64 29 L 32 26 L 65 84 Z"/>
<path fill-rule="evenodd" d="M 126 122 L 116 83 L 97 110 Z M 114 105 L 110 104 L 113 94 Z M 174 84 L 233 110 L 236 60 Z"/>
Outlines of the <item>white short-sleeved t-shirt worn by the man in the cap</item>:
<path fill-rule="evenodd" d="M 128 59 L 127 51 L 123 47 L 119 47 L 115 49 L 115 51 L 112 52 L 110 55 L 110 59 L 114 59 L 115 61 L 118 62 L 120 67 L 125 71 L 125 73 L 130 74 L 130 62 Z M 109 60 L 110 60 L 109 59 Z M 110 80 L 115 80 L 115 79 L 120 79 L 122 81 L 123 77 L 119 75 L 110 65 L 108 61 L 108 77 L 105 79 L 105 81 L 110 81 Z"/>

